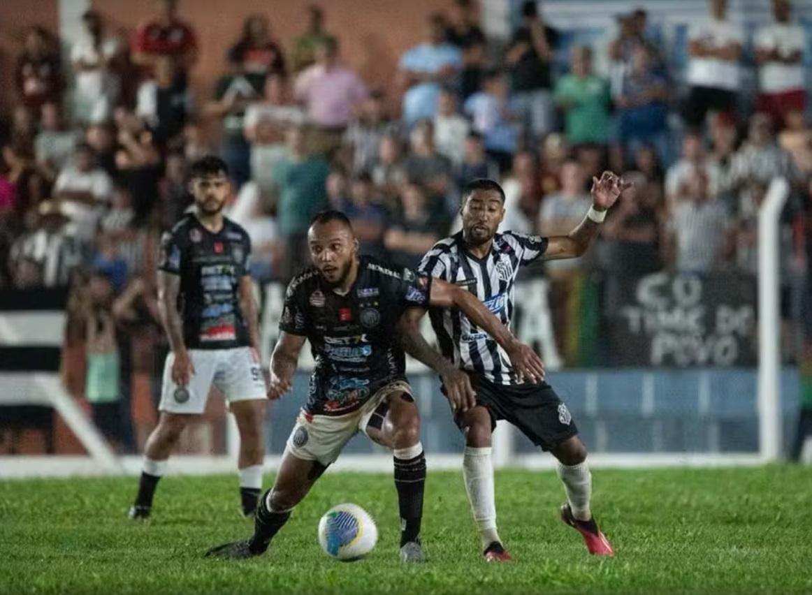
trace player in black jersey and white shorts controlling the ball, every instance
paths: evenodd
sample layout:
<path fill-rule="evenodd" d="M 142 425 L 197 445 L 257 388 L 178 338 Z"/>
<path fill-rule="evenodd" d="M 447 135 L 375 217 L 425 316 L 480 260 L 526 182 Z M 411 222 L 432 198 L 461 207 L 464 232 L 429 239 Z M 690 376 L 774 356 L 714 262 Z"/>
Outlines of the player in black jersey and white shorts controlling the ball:
<path fill-rule="evenodd" d="M 279 399 L 291 389 L 299 352 L 309 340 L 317 362 L 309 399 L 288 438 L 274 486 L 261 498 L 253 537 L 220 545 L 208 554 L 248 558 L 264 553 L 313 482 L 361 431 L 392 450 L 400 555 L 405 562 L 421 561 L 425 457 L 404 352 L 396 340 L 404 310 L 429 304 L 460 308 L 506 349 L 516 369 L 539 381 L 541 360 L 469 292 L 359 257 L 358 240 L 343 213 L 317 216 L 308 241 L 313 268 L 296 276 L 287 289 L 282 332 L 270 360 L 269 396 Z M 468 378 L 440 360 L 443 382 L 455 398 L 464 398 L 471 390 Z"/>

